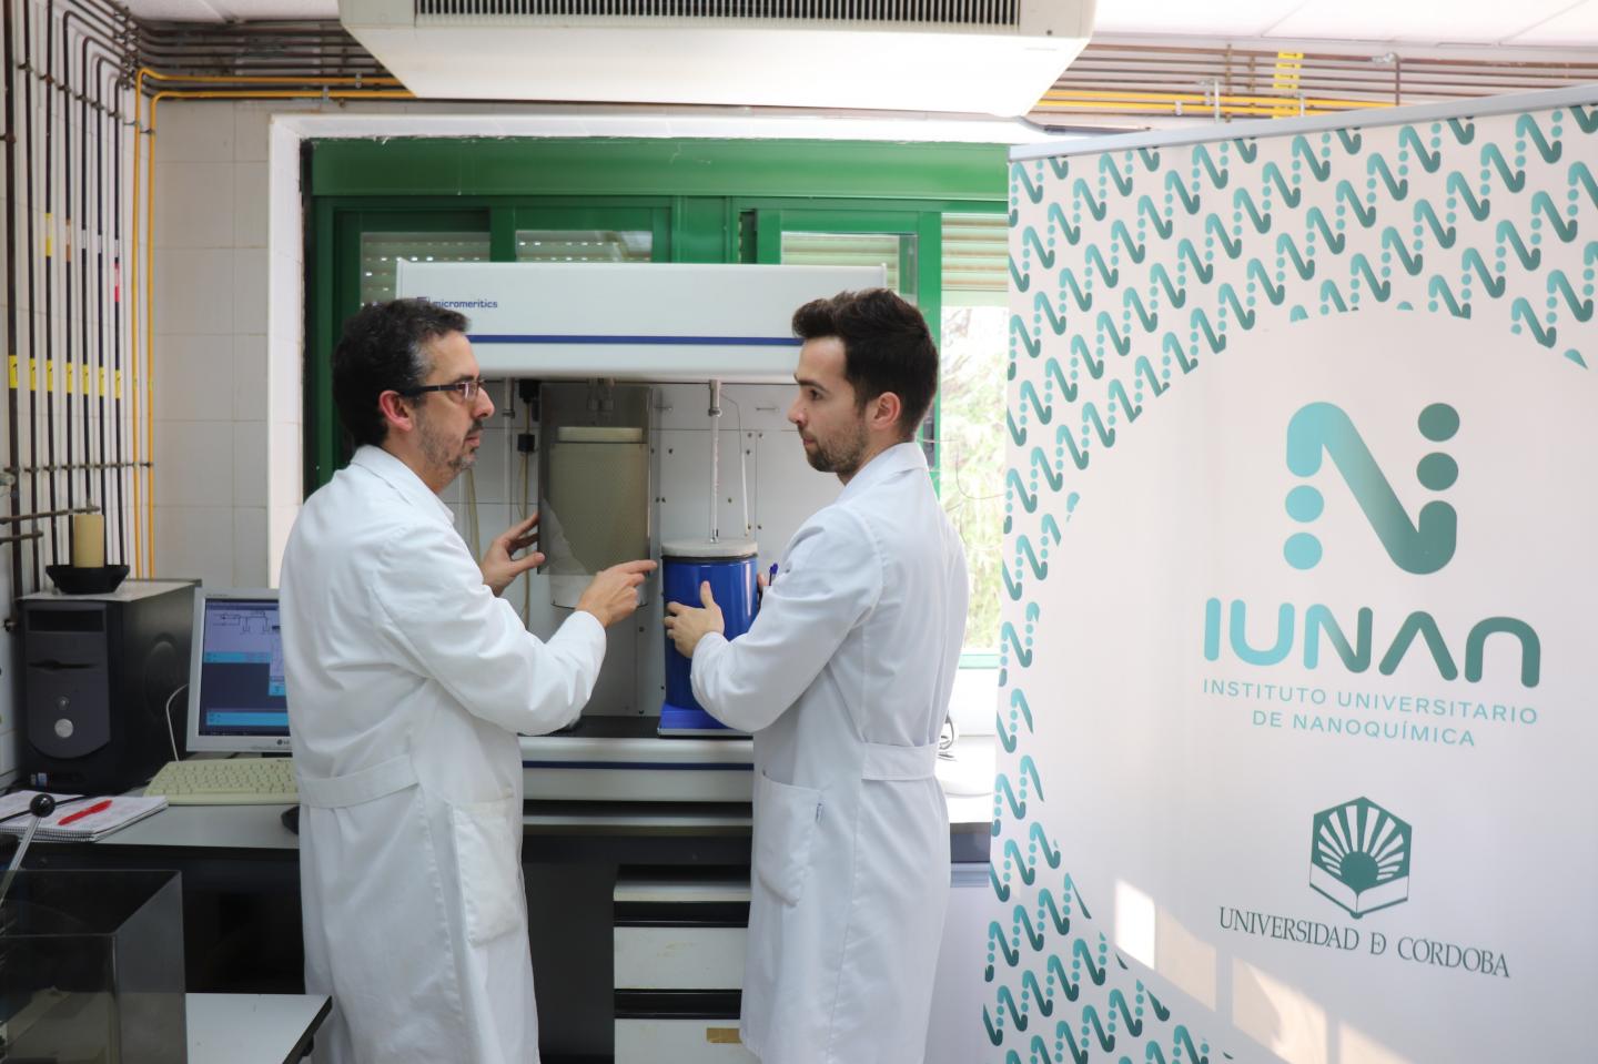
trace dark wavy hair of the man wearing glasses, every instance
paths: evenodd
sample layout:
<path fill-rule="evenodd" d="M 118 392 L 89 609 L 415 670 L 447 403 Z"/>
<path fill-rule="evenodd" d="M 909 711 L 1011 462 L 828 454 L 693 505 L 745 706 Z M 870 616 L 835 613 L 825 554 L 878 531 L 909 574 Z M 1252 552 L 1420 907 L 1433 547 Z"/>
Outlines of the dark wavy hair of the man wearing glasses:
<path fill-rule="evenodd" d="M 344 323 L 332 351 L 332 403 L 356 446 L 388 435 L 377 396 L 414 388 L 431 371 L 422 345 L 467 328 L 465 315 L 425 299 L 369 304 Z"/>

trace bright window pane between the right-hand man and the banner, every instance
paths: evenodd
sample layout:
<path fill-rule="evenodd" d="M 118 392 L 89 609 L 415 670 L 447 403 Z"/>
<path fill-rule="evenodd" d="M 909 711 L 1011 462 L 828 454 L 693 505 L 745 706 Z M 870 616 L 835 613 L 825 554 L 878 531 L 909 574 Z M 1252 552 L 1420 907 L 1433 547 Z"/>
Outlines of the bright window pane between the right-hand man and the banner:
<path fill-rule="evenodd" d="M 970 569 L 968 653 L 999 649 L 1004 433 L 994 427 L 1005 420 L 1007 241 L 1002 214 L 943 220 L 940 498 Z"/>

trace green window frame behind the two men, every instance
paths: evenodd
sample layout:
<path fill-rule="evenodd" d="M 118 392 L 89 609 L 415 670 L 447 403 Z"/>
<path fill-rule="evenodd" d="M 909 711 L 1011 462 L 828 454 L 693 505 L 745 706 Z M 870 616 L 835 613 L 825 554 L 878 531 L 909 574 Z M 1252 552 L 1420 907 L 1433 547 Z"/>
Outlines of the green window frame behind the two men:
<path fill-rule="evenodd" d="M 364 233 L 486 232 L 489 260 L 515 262 L 518 230 L 647 230 L 654 262 L 727 264 L 780 262 L 783 232 L 911 235 L 916 260 L 900 275 L 914 267 L 916 302 L 941 342 L 943 216 L 1004 214 L 1007 158 L 1002 144 L 877 141 L 312 141 L 305 490 L 348 460 L 331 359 L 360 308 Z"/>

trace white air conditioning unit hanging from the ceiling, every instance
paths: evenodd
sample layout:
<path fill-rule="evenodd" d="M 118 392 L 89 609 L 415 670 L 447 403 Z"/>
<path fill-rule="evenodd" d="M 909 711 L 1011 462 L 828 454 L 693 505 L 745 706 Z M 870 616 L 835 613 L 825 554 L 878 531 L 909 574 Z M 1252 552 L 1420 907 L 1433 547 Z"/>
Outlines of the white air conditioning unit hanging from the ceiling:
<path fill-rule="evenodd" d="M 427 99 L 1024 115 L 1095 0 L 339 0 Z"/>

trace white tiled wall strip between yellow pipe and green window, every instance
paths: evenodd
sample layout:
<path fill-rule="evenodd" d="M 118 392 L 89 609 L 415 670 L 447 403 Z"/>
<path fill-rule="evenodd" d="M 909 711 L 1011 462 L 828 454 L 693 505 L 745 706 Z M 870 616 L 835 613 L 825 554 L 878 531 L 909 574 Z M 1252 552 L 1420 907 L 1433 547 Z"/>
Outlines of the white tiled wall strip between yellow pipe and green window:
<path fill-rule="evenodd" d="M 297 150 L 272 169 L 265 105 L 157 128 L 155 570 L 265 586 L 302 495 Z"/>

